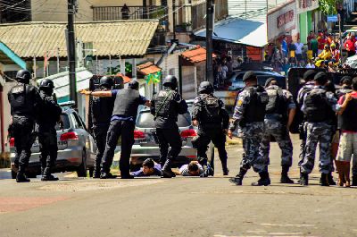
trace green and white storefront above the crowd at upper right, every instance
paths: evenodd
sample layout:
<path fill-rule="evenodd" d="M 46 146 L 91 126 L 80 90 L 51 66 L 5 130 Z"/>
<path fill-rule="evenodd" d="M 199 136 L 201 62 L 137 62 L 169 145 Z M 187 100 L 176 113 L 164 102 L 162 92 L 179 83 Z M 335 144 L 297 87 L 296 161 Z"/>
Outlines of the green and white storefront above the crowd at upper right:
<path fill-rule="evenodd" d="M 307 43 L 307 36 L 310 31 L 318 30 L 318 23 L 321 19 L 319 8 L 319 0 L 297 0 L 296 13 L 298 15 L 298 24 L 300 39 L 303 44 Z"/>

